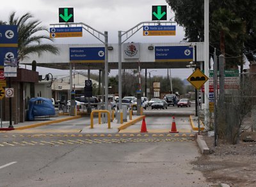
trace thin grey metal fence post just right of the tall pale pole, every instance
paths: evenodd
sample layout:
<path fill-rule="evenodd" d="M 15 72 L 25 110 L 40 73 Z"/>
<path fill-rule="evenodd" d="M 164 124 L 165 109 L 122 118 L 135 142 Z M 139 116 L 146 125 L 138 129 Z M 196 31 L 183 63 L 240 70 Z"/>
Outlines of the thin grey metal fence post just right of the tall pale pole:
<path fill-rule="evenodd" d="M 217 146 L 218 140 L 218 121 L 217 121 L 217 90 L 218 90 L 218 64 L 217 64 L 216 48 L 214 48 L 213 56 L 213 89 L 214 89 L 214 146 Z"/>

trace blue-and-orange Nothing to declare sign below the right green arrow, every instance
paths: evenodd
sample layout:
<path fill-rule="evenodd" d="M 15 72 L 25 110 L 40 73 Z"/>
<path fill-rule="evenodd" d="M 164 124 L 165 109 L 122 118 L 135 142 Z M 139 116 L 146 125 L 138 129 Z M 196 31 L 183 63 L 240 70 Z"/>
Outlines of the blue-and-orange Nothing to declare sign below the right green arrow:
<path fill-rule="evenodd" d="M 175 36 L 176 26 L 143 26 L 143 36 Z"/>

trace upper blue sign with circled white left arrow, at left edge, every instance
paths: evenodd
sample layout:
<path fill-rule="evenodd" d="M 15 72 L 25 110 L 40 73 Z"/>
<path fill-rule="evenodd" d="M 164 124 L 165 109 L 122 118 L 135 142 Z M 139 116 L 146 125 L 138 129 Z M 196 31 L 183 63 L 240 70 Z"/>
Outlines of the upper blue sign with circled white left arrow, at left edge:
<path fill-rule="evenodd" d="M 18 47 L 17 26 L 0 26 L 0 47 Z"/>

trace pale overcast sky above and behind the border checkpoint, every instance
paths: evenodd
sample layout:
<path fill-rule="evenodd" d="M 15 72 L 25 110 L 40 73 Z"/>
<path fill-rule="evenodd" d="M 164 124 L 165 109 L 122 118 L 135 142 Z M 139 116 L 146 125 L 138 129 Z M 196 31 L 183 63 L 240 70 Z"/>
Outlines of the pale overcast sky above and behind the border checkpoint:
<path fill-rule="evenodd" d="M 58 24 L 59 8 L 74 8 L 74 22 L 84 22 L 89 26 L 104 33 L 108 31 L 109 43 L 118 43 L 118 31 L 127 31 L 140 22 L 152 19 L 152 5 L 167 5 L 164 0 L 8 0 L 1 1 L 0 20 L 7 21 L 12 11 L 17 15 L 30 12 L 35 19 L 42 21 L 42 25 L 50 27 L 50 24 Z M 168 7 L 167 20 L 174 21 L 174 14 Z M 177 24 L 173 24 L 177 25 Z M 138 31 L 127 42 L 179 42 L 184 38 L 182 27 L 177 26 L 176 36 L 143 36 Z M 54 43 L 100 43 L 89 33 L 83 31 L 83 38 L 56 38 Z M 49 73 L 48 69 L 38 68 L 40 73 Z M 157 70 L 152 75 L 163 75 L 167 70 Z M 66 73 L 66 71 L 54 71 L 55 75 Z M 115 73 L 113 71 L 112 73 Z M 68 73 L 67 73 L 68 74 Z M 191 70 L 172 70 L 173 77 L 186 79 Z"/>

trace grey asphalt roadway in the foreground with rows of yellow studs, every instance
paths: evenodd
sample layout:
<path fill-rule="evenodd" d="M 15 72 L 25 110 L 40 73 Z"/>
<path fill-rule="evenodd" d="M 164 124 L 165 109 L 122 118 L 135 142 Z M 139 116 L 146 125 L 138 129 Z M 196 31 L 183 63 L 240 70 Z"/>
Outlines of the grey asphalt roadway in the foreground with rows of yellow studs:
<path fill-rule="evenodd" d="M 0 186 L 212 185 L 190 163 L 193 138 L 10 134 L 0 144 Z"/>

